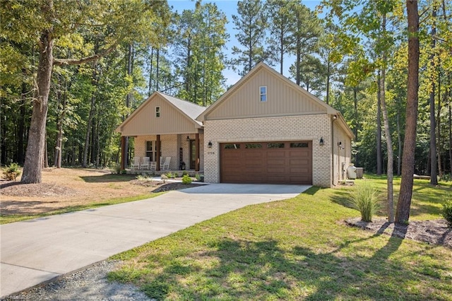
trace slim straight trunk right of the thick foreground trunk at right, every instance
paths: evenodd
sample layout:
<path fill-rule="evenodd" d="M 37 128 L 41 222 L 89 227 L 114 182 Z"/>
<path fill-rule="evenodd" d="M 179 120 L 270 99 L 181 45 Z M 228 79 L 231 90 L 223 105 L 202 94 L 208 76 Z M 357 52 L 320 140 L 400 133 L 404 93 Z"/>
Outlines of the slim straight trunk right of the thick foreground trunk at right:
<path fill-rule="evenodd" d="M 434 22 L 434 19 L 436 18 L 436 8 L 433 8 L 432 11 L 432 19 Z M 436 35 L 436 27 L 433 23 L 432 25 L 432 54 L 430 55 L 430 66 L 432 69 L 430 70 L 431 73 L 431 81 L 432 81 L 432 88 L 430 90 L 430 184 L 437 185 L 438 184 L 438 178 L 436 177 L 436 167 L 438 165 L 438 162 L 436 160 L 436 118 L 435 118 L 435 35 Z"/>

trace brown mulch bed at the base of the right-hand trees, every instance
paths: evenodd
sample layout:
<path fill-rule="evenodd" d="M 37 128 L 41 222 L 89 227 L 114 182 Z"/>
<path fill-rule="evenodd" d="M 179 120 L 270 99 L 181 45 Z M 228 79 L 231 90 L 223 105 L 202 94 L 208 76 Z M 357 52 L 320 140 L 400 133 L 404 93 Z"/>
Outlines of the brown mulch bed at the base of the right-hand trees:
<path fill-rule="evenodd" d="M 429 244 L 440 244 L 452 249 L 452 228 L 446 220 L 410 220 L 409 225 L 388 223 L 385 219 L 363 222 L 360 218 L 345 220 L 347 225 L 369 230 L 376 234 L 386 234 Z"/>

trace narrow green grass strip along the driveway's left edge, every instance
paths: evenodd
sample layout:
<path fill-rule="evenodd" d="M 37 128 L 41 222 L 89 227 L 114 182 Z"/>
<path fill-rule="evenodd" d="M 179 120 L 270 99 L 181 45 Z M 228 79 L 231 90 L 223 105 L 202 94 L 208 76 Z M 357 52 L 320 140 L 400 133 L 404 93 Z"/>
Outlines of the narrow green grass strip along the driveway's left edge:
<path fill-rule="evenodd" d="M 102 206 L 114 205 L 114 204 L 117 204 L 117 203 L 127 203 L 129 201 L 138 201 L 138 200 L 142 200 L 142 199 L 150 199 L 150 198 L 153 198 L 155 196 L 160 196 L 160 194 L 163 194 L 163 193 L 165 193 L 165 192 L 160 192 L 160 193 L 156 193 L 156 194 L 142 194 L 142 195 L 139 195 L 139 196 L 127 196 L 127 197 L 115 198 L 115 199 L 110 199 L 110 200 L 107 200 L 107 201 L 102 201 L 101 203 L 93 202 L 93 203 L 88 203 L 86 205 L 69 206 L 69 207 L 60 208 L 60 209 L 57 209 L 57 210 L 54 210 L 54 211 L 49 211 L 49 212 L 45 212 L 45 213 L 30 214 L 30 215 L 8 215 L 8 216 L 4 216 L 4 215 L 2 215 L 0 213 L 0 225 L 6 224 L 6 223 L 20 222 L 21 220 L 31 220 L 33 218 L 45 218 L 47 216 L 54 216 L 56 214 L 69 213 L 69 212 L 73 212 L 73 211 L 81 211 L 81 210 L 86 210 L 86 209 L 102 207 Z"/>

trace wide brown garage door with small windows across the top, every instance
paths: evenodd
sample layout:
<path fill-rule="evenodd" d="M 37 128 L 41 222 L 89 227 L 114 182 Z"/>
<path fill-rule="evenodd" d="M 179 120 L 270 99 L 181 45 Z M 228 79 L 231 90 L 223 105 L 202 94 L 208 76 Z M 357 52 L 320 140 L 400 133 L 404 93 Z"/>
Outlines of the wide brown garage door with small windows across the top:
<path fill-rule="evenodd" d="M 312 184 L 312 142 L 220 143 L 220 181 Z"/>

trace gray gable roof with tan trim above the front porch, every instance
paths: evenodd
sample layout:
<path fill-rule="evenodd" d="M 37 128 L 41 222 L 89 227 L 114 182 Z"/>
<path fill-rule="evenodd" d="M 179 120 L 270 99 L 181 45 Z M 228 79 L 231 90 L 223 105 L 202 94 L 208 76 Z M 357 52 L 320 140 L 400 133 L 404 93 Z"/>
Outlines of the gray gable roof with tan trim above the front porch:
<path fill-rule="evenodd" d="M 189 102 L 186 100 L 181 100 L 179 98 L 174 98 L 173 96 L 167 95 L 165 93 L 161 92 L 154 92 L 152 95 L 149 96 L 147 100 L 145 100 L 141 105 L 139 105 L 136 110 L 130 114 L 129 117 L 122 122 L 115 131 L 117 132 L 123 132 L 124 128 L 129 124 L 133 119 L 138 117 L 145 108 L 150 105 L 150 102 L 153 100 L 160 99 L 164 100 L 169 104 L 170 107 L 172 107 L 175 111 L 182 114 L 182 116 L 186 117 L 186 120 L 189 121 L 191 124 L 193 124 L 194 129 L 200 129 L 203 127 L 202 122 L 199 122 L 196 120 L 196 117 L 198 117 L 199 114 L 204 112 L 206 110 L 206 107 L 201 107 L 200 105 L 196 105 L 193 102 Z"/>

